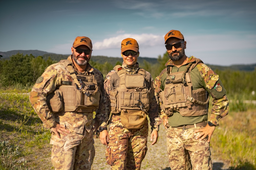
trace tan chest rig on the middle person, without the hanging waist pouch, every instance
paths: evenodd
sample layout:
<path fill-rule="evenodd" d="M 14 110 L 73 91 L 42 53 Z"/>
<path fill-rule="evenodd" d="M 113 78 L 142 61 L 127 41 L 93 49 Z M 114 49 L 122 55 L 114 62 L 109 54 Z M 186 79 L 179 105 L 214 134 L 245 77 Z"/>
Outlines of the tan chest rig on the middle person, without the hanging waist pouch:
<path fill-rule="evenodd" d="M 114 70 L 120 77 L 118 87 L 109 91 L 111 113 L 116 114 L 121 110 L 142 110 L 149 109 L 149 90 L 145 77 L 146 71 L 139 68 L 137 74 L 127 74 L 120 65 Z"/>

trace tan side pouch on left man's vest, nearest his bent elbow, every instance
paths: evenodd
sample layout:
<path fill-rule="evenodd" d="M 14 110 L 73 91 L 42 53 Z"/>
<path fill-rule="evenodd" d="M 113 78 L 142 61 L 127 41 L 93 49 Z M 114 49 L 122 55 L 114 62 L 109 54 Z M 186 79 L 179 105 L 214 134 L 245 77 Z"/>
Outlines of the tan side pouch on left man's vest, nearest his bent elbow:
<path fill-rule="evenodd" d="M 46 97 L 47 105 L 51 112 L 57 113 L 63 109 L 63 95 L 62 91 L 55 89 Z"/>

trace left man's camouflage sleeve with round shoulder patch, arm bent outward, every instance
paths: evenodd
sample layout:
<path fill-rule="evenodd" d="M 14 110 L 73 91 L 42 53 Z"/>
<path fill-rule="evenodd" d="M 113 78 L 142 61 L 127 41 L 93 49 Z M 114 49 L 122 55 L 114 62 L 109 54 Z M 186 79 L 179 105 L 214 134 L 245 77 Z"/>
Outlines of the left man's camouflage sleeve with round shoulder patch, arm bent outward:
<path fill-rule="evenodd" d="M 72 80 L 71 76 L 65 76 L 69 74 L 69 72 L 63 67 L 64 66 L 58 63 L 49 66 L 37 79 L 36 84 L 33 86 L 29 95 L 29 100 L 35 109 L 35 112 L 38 114 L 46 128 L 50 128 L 55 124 L 54 116 L 46 103 L 47 94 L 54 91 L 61 81 Z"/>

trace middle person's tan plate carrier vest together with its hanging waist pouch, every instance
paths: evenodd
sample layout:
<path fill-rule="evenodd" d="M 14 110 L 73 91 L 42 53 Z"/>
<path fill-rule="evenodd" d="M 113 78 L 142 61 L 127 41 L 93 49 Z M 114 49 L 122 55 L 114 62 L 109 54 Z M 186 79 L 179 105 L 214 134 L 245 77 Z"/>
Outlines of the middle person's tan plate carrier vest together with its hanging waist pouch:
<path fill-rule="evenodd" d="M 149 110 L 149 90 L 146 71 L 139 68 L 137 74 L 127 74 L 120 65 L 114 67 L 120 77 L 119 87 L 109 91 L 111 113 L 121 113 L 121 122 L 128 129 L 144 125 Z"/>

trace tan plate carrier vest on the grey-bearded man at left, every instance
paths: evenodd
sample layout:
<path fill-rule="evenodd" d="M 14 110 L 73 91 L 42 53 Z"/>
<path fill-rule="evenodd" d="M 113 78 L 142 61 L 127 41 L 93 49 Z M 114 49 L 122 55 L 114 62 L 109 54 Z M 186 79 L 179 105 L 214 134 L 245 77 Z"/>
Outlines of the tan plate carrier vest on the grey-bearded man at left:
<path fill-rule="evenodd" d="M 101 91 L 95 80 L 94 72 L 90 75 L 75 74 L 72 62 L 61 60 L 72 77 L 72 82 L 62 81 L 60 86 L 47 95 L 49 109 L 56 112 L 93 112 L 99 108 Z"/>

